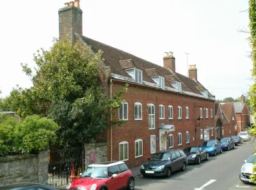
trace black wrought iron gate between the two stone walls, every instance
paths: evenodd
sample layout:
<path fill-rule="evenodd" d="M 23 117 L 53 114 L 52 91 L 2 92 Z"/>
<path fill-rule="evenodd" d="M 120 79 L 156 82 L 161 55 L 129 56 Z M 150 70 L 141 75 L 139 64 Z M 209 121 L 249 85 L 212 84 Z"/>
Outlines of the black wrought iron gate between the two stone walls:
<path fill-rule="evenodd" d="M 76 175 L 79 175 L 79 168 L 81 168 L 82 171 L 84 170 L 84 148 L 49 150 L 49 185 L 57 187 L 67 185 L 67 183 L 70 182 L 72 164 L 74 164 Z"/>

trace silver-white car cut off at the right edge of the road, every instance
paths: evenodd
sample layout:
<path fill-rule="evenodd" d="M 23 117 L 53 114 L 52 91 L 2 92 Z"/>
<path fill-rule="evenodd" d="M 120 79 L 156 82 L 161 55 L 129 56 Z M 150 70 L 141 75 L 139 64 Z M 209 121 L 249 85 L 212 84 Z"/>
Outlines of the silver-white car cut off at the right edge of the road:
<path fill-rule="evenodd" d="M 253 163 L 256 162 L 256 153 L 252 154 L 247 160 L 244 160 L 244 164 L 241 167 L 239 179 L 242 182 L 251 182 L 250 175 L 252 175 Z"/>

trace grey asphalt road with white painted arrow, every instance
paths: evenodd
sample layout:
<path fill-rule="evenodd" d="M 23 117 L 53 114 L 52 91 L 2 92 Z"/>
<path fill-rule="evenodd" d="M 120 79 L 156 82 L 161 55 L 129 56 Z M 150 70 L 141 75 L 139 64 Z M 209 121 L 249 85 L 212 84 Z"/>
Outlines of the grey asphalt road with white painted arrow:
<path fill-rule="evenodd" d="M 136 177 L 135 189 L 254 189 L 255 185 L 244 184 L 239 180 L 243 161 L 252 155 L 254 147 L 253 144 L 236 146 L 236 149 L 223 151 L 216 157 L 209 157 L 209 161 L 202 161 L 201 164 L 189 164 L 185 172 L 175 172 L 170 179 Z"/>

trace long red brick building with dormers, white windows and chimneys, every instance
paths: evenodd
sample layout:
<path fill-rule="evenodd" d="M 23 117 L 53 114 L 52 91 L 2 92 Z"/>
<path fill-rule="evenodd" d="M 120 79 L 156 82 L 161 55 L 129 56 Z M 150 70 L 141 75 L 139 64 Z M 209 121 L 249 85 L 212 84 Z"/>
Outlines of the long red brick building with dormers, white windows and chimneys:
<path fill-rule="evenodd" d="M 92 54 L 102 50 L 99 78 L 109 96 L 129 84 L 125 102 L 110 118 L 127 122 L 108 128 L 108 160 L 138 166 L 161 149 L 183 149 L 215 138 L 215 99 L 198 82 L 195 65 L 189 66 L 186 77 L 175 71 L 172 52 L 166 53 L 159 66 L 82 36 L 82 13 L 79 1 L 59 10 L 60 39 L 79 40 L 92 47 Z"/>

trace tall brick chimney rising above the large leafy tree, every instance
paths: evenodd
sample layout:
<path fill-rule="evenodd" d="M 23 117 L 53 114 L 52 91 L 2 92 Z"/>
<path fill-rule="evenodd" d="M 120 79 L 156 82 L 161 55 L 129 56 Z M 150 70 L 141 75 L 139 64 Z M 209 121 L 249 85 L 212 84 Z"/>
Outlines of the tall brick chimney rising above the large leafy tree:
<path fill-rule="evenodd" d="M 67 37 L 74 43 L 77 38 L 74 33 L 83 36 L 83 11 L 80 9 L 79 0 L 65 3 L 65 7 L 59 10 L 59 38 L 60 40 Z"/>

